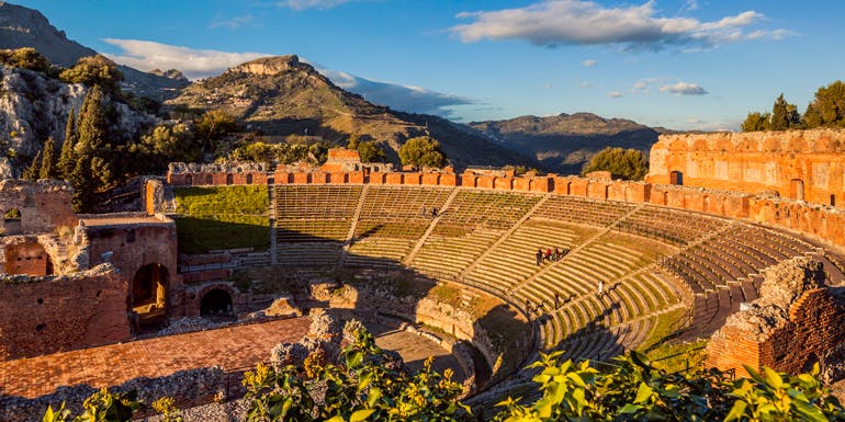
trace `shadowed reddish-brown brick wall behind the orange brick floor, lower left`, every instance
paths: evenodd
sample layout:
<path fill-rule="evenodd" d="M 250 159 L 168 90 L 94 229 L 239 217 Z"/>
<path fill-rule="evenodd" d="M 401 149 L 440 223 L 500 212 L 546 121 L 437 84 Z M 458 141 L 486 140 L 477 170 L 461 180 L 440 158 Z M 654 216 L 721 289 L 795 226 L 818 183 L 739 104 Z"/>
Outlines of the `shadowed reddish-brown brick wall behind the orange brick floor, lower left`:
<path fill-rule="evenodd" d="M 131 340 L 127 280 L 111 265 L 74 275 L 0 276 L 0 360 Z"/>

